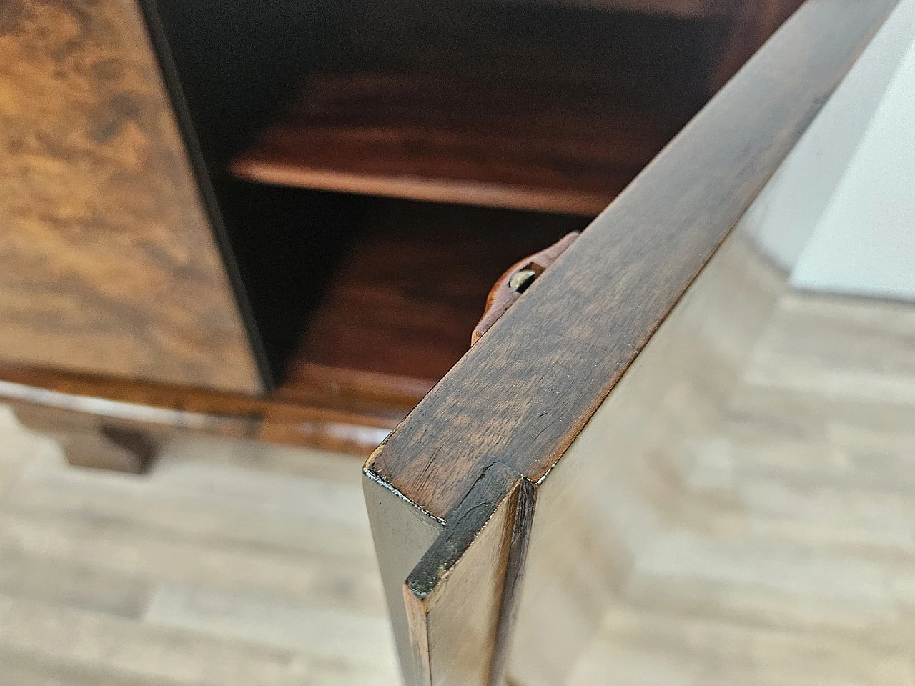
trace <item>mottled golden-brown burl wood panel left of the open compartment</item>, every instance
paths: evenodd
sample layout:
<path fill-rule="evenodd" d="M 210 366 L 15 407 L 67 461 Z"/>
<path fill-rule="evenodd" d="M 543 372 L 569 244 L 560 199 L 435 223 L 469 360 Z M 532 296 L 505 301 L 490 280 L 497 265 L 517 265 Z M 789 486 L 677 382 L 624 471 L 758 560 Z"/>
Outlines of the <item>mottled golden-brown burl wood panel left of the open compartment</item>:
<path fill-rule="evenodd" d="M 0 358 L 260 391 L 132 0 L 0 4 Z"/>

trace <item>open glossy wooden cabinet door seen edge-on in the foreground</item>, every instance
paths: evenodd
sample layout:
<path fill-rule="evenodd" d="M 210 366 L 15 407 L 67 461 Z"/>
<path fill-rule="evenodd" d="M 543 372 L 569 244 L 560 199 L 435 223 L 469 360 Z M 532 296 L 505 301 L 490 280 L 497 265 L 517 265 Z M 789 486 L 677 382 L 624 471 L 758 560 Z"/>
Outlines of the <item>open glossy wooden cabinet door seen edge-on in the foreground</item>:
<path fill-rule="evenodd" d="M 783 618 L 798 584 L 832 583 L 819 558 L 742 540 L 721 436 L 809 428 L 796 394 L 770 402 L 741 380 L 911 40 L 913 5 L 803 5 L 371 456 L 408 686 L 556 686 L 584 669 L 608 612 L 633 635 L 676 633 L 639 624 L 632 603 Z M 761 577 L 765 609 L 739 592 Z M 748 682 L 715 681 L 701 660 L 670 682 L 694 672 Z"/>

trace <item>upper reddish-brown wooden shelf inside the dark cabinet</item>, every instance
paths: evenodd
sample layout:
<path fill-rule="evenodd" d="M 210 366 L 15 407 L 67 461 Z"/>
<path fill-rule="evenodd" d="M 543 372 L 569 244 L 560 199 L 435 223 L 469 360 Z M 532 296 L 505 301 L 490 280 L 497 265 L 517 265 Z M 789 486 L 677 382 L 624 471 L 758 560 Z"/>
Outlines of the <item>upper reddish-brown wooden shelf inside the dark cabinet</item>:
<path fill-rule="evenodd" d="M 704 102 L 708 30 L 562 5 L 364 3 L 232 170 L 594 215 Z"/>

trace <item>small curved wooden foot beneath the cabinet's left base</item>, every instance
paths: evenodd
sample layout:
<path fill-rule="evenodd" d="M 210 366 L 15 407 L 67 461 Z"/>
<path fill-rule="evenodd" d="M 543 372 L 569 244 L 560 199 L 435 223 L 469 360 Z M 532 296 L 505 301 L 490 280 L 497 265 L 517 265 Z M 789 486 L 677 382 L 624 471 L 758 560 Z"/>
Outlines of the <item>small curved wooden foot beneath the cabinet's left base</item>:
<path fill-rule="evenodd" d="M 141 474 L 156 456 L 155 440 L 139 429 L 53 407 L 16 405 L 13 409 L 23 426 L 57 440 L 73 466 Z"/>

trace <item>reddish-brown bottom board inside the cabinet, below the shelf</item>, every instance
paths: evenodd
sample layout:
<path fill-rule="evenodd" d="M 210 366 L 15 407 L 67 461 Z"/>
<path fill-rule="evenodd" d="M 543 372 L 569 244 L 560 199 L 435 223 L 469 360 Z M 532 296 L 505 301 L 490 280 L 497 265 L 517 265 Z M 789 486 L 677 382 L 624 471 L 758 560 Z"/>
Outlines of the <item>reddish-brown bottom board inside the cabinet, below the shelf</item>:
<path fill-rule="evenodd" d="M 490 287 L 506 267 L 585 223 L 568 215 L 371 201 L 281 393 L 294 400 L 302 387 L 336 385 L 401 394 L 412 408 L 467 351 Z"/>

